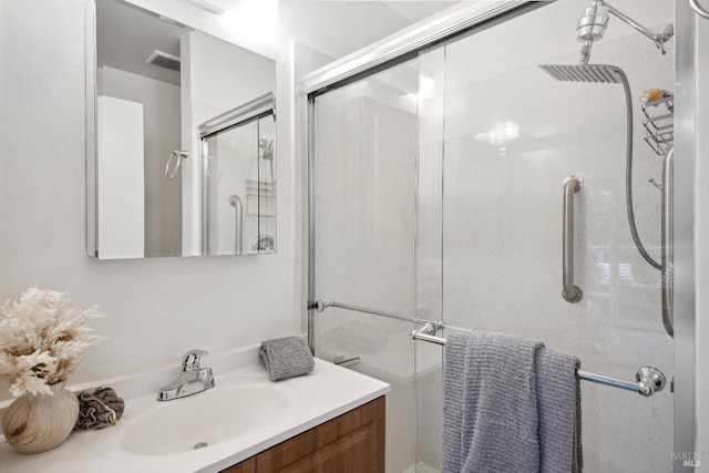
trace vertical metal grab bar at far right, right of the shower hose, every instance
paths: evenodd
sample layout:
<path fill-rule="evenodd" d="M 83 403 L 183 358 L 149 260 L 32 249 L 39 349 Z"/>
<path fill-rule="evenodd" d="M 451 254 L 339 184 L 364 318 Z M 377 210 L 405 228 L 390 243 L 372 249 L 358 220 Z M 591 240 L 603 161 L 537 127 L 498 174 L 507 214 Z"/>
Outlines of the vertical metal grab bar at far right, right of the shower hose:
<path fill-rule="evenodd" d="M 675 157 L 675 148 L 665 155 L 662 164 L 662 254 L 660 267 L 662 269 L 662 325 L 670 337 L 675 336 L 675 316 L 672 313 L 674 306 L 674 285 L 675 285 L 675 241 L 672 232 L 672 161 Z"/>

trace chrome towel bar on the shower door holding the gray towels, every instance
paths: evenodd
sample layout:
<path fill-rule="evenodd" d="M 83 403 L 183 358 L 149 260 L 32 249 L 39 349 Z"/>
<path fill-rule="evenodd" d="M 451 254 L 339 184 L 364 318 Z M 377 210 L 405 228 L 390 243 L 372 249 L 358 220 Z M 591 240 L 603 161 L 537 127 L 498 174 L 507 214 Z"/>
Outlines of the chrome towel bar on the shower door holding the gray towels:
<path fill-rule="evenodd" d="M 418 330 L 413 330 L 411 332 L 411 338 L 413 340 L 423 340 L 429 341 L 435 345 L 445 346 L 448 340 L 443 337 L 436 337 L 434 331 L 434 327 L 436 327 L 440 322 L 427 322 L 423 327 Z M 583 379 L 586 381 L 593 381 L 605 385 L 610 385 L 614 388 L 626 389 L 628 391 L 637 392 L 644 397 L 650 397 L 657 391 L 661 391 L 667 384 L 667 379 L 665 374 L 660 370 L 654 367 L 643 367 L 635 374 L 636 382 L 623 381 L 616 378 L 604 377 L 596 373 L 590 373 L 588 371 L 576 370 L 576 377 L 578 379 Z"/>

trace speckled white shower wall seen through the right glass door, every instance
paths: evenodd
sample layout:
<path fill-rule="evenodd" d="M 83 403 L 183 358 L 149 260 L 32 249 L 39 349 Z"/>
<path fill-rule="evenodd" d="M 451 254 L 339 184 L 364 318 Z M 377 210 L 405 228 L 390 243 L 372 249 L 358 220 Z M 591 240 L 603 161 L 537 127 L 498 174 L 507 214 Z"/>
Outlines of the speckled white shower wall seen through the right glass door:
<path fill-rule="evenodd" d="M 646 11 L 617 7 L 631 17 Z M 577 354 L 584 369 L 620 379 L 633 379 L 646 364 L 671 376 L 659 271 L 637 254 L 626 220 L 623 89 L 554 81 L 536 64 L 575 64 L 576 47 L 543 49 L 536 38 L 513 33 L 545 24 L 573 27 L 577 14 L 576 2 L 561 2 L 448 48 L 445 321 L 538 338 Z M 671 21 L 671 12 L 666 18 Z M 623 28 L 613 21 L 609 29 Z M 500 54 L 487 68 L 490 44 L 514 52 Z M 626 30 L 594 45 L 592 62 L 615 64 L 628 74 L 636 220 L 659 260 L 660 193 L 647 181 L 659 181 L 661 158 L 643 141 L 638 96 L 651 88 L 672 91 L 671 50 L 660 55 L 646 38 Z M 473 71 L 470 64 L 485 68 Z M 562 183 L 575 173 L 585 183 L 577 194 L 575 243 L 575 277 L 584 299 L 569 305 L 561 297 Z M 645 400 L 593 383 L 582 390 L 587 469 L 669 469 L 671 393 Z M 650 417 L 658 428 L 635 435 Z"/>

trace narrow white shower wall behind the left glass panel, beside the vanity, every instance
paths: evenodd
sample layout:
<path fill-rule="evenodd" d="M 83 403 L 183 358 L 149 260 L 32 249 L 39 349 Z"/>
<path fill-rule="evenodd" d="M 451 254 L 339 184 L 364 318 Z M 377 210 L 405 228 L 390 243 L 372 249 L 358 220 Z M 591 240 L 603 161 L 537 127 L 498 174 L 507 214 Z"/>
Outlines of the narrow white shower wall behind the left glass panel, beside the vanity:
<path fill-rule="evenodd" d="M 415 68 L 400 68 L 415 83 Z M 316 287 L 325 300 L 412 315 L 417 119 L 393 90 L 378 75 L 316 102 Z M 318 357 L 360 357 L 354 370 L 391 384 L 387 469 L 403 471 L 415 460 L 412 325 L 340 309 L 316 318 Z"/>

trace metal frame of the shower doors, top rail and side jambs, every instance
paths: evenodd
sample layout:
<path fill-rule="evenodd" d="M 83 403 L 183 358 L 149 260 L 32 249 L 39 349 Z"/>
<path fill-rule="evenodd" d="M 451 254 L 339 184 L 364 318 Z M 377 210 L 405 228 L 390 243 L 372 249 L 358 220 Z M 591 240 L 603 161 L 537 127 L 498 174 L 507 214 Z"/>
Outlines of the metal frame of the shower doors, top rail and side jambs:
<path fill-rule="evenodd" d="M 484 2 L 463 2 L 423 20 L 369 48 L 345 56 L 307 75 L 298 82 L 307 100 L 308 114 L 308 341 L 315 349 L 315 100 L 318 95 L 371 75 L 382 69 L 415 56 L 420 51 L 464 34 L 490 28 L 524 14 L 547 2 L 511 1 L 494 7 Z M 696 315 L 695 315 L 695 162 L 696 144 L 696 13 L 688 2 L 675 2 L 675 81 L 678 84 L 675 113 L 675 374 L 674 450 L 695 452 L 696 446 Z M 404 34 L 407 33 L 407 34 Z M 659 316 L 658 316 L 659 319 Z M 675 472 L 684 471 L 681 461 Z"/>

